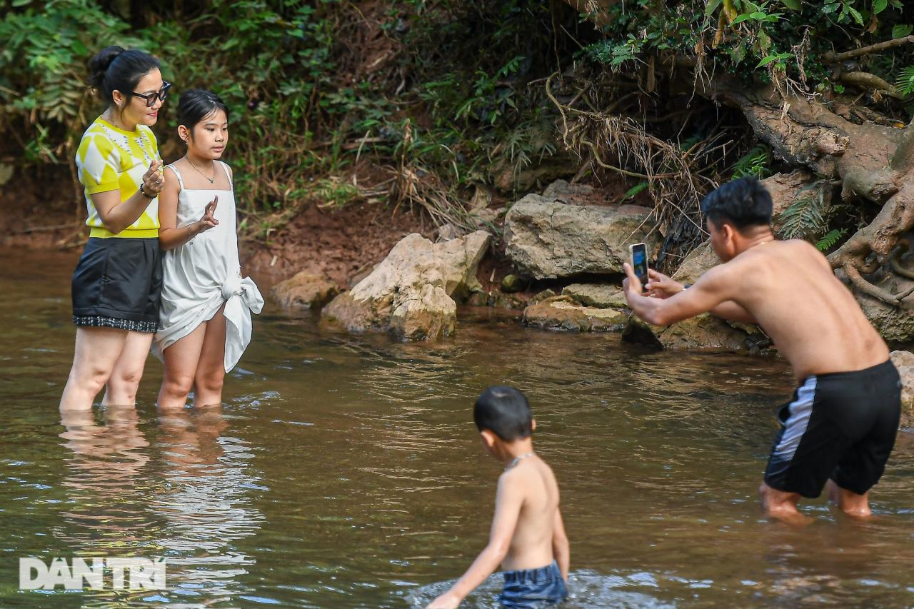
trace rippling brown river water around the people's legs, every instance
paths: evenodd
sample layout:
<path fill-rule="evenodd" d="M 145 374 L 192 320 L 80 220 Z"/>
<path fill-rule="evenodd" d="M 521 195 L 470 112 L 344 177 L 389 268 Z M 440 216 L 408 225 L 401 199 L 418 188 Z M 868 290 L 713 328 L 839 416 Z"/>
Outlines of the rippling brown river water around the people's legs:
<path fill-rule="evenodd" d="M 69 272 L 0 269 L 0 606 L 421 606 L 486 542 L 500 465 L 471 404 L 510 382 L 562 489 L 569 607 L 914 604 L 914 441 L 877 486 L 877 518 L 757 506 L 783 362 L 676 354 L 614 335 L 527 330 L 462 312 L 434 346 L 260 315 L 222 407 L 158 412 L 149 360 L 134 409 L 60 417 Z M 58 424 L 59 422 L 59 424 Z M 16 590 L 21 556 L 165 556 L 166 591 Z M 466 606 L 492 606 L 492 578 Z"/>

